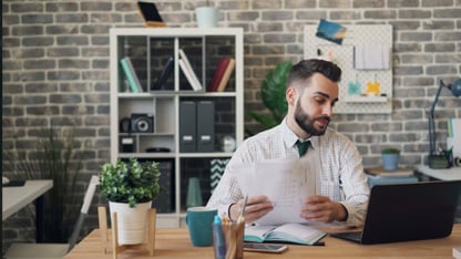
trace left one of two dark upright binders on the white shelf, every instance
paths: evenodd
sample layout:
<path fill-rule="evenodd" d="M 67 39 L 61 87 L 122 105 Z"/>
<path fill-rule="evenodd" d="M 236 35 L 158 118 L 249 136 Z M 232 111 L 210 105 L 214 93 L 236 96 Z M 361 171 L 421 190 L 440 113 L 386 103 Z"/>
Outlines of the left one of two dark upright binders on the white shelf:
<path fill-rule="evenodd" d="M 196 104 L 194 101 L 180 103 L 180 152 L 196 152 Z"/>

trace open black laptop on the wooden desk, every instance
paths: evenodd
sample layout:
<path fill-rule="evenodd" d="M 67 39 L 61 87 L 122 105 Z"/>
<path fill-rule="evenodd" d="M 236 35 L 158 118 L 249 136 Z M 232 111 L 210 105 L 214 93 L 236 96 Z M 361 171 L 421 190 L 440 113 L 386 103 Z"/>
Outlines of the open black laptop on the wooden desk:
<path fill-rule="evenodd" d="M 461 180 L 377 185 L 362 231 L 330 236 L 365 245 L 447 237 L 460 195 Z"/>

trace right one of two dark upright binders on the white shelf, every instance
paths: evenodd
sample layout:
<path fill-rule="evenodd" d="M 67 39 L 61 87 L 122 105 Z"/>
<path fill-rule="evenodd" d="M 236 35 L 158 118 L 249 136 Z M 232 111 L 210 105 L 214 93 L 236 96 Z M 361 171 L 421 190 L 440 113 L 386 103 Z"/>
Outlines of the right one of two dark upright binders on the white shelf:
<path fill-rule="evenodd" d="M 215 149 L 215 104 L 213 101 L 197 102 L 197 152 Z"/>

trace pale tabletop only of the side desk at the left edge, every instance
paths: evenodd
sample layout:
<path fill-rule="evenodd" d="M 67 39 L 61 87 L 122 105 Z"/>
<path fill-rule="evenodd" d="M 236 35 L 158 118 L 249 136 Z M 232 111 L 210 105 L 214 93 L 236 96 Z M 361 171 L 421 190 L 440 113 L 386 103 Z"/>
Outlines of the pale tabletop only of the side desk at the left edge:
<path fill-rule="evenodd" d="M 2 187 L 2 221 L 52 187 L 52 180 L 27 180 L 23 186 Z"/>

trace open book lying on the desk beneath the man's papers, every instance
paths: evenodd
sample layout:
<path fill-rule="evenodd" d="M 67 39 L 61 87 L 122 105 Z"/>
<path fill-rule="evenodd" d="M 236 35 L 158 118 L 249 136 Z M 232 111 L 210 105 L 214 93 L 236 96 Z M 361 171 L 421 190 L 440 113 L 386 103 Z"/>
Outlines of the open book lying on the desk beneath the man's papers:
<path fill-rule="evenodd" d="M 245 228 L 244 240 L 248 242 L 315 245 L 326 235 L 325 231 L 305 224 L 256 225 Z"/>

